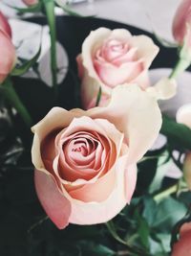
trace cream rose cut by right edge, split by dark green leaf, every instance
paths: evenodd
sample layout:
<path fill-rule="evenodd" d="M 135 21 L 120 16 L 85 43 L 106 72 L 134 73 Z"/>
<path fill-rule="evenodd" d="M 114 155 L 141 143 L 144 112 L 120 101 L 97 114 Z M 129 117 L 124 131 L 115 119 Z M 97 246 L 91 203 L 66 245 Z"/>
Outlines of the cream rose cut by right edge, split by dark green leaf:
<path fill-rule="evenodd" d="M 182 105 L 177 111 L 177 122 L 191 128 L 191 104 Z M 187 152 L 183 162 L 183 176 L 191 190 L 191 151 Z"/>

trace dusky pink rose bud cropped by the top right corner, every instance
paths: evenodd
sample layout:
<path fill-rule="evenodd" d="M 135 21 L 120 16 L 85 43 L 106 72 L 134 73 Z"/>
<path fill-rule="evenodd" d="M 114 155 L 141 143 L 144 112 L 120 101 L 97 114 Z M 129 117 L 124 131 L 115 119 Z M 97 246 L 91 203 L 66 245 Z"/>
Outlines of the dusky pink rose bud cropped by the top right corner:
<path fill-rule="evenodd" d="M 183 43 L 185 35 L 188 33 L 188 30 L 190 31 L 190 25 L 191 0 L 182 0 L 173 20 L 173 35 L 180 44 Z M 191 44 L 190 36 L 191 35 L 188 35 L 188 39 L 190 40 L 189 45 Z"/>

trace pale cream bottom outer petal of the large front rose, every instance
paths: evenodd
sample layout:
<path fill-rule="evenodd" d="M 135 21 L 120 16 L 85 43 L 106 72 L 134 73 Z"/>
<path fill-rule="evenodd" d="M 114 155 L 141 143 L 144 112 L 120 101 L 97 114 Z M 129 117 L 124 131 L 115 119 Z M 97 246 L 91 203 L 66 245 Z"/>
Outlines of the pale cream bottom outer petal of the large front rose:
<path fill-rule="evenodd" d="M 71 223 L 77 224 L 96 224 L 110 221 L 124 208 L 127 203 L 129 191 L 126 192 L 125 172 L 126 157 L 121 157 L 117 162 L 117 179 L 113 192 L 102 202 L 82 202 L 72 199 Z M 130 168 L 135 167 L 131 166 Z M 131 172 L 131 171 L 130 171 Z M 129 180 L 131 182 L 131 180 Z M 134 183 L 134 181 L 132 181 Z M 133 194 L 130 191 L 131 195 Z"/>

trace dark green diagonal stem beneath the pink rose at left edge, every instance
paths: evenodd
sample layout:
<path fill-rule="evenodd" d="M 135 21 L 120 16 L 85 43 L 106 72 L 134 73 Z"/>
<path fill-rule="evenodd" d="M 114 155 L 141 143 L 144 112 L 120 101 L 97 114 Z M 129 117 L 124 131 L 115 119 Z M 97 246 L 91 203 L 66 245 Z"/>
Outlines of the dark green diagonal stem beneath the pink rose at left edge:
<path fill-rule="evenodd" d="M 32 127 L 32 117 L 30 116 L 27 108 L 25 105 L 22 104 L 21 100 L 19 99 L 16 91 L 14 90 L 11 80 L 7 79 L 4 81 L 3 84 L 0 85 L 0 90 L 3 96 L 11 103 L 13 107 L 17 110 L 20 114 L 22 119 L 24 120 L 25 124 L 31 128 Z"/>

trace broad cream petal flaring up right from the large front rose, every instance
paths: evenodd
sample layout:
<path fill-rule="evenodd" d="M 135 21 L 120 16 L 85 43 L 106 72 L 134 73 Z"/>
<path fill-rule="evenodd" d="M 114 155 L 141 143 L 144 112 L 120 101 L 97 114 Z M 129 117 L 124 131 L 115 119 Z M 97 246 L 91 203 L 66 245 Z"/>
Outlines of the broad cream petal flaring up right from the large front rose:
<path fill-rule="evenodd" d="M 137 162 L 152 147 L 161 126 L 161 113 L 155 98 L 136 84 L 118 85 L 113 89 L 109 105 L 87 112 L 93 118 L 108 119 L 124 132 L 124 137 L 128 138 L 129 163 Z"/>

